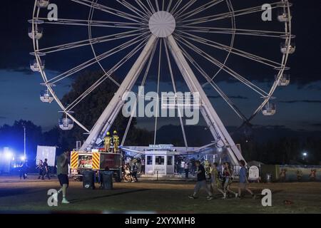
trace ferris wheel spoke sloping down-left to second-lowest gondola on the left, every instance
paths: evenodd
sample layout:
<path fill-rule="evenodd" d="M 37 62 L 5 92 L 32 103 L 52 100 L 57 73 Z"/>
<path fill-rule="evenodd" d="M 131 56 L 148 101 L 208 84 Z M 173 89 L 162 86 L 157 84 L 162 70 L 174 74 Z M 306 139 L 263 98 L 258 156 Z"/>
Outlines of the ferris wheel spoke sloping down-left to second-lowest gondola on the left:
<path fill-rule="evenodd" d="M 144 35 L 146 35 L 146 33 L 143 33 L 141 36 L 144 36 Z M 142 41 L 143 38 L 141 38 L 141 36 L 133 38 L 133 40 L 127 41 L 126 43 L 123 43 L 121 46 L 117 46 L 116 48 L 112 48 L 111 50 L 106 51 L 105 53 L 102 53 L 97 58 L 96 57 L 91 58 L 90 60 L 88 60 L 84 63 L 81 63 L 79 66 L 76 66 L 76 67 L 74 67 L 64 73 L 61 73 L 60 75 L 49 80 L 47 83 L 53 83 L 53 84 L 57 83 L 58 81 L 61 81 L 64 78 L 68 78 L 69 76 L 72 76 L 74 73 L 77 73 L 85 68 L 88 68 L 89 66 L 92 66 L 97 61 L 101 61 L 105 58 L 113 56 L 113 54 L 123 51 L 124 49 L 128 48 L 129 46 L 133 46 L 133 44 L 138 43 L 139 41 Z"/>

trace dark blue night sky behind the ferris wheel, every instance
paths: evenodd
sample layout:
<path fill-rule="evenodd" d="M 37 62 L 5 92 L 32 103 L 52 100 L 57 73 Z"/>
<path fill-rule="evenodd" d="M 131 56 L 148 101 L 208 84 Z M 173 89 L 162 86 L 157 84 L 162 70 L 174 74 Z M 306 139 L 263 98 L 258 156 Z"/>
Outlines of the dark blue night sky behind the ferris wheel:
<path fill-rule="evenodd" d="M 76 4 L 68 4 L 66 0 L 52 2 L 60 7 L 59 17 L 86 19 L 88 15 L 88 8 L 84 6 L 71 8 Z M 110 3 L 111 1 L 109 0 L 105 2 L 114 4 Z M 243 8 L 244 0 L 233 0 L 232 2 L 235 4 L 235 9 Z M 260 5 L 258 2 L 261 1 L 246 0 L 246 5 L 258 6 Z M 319 131 L 321 130 L 321 3 L 320 0 L 296 0 L 292 1 L 292 3 L 292 33 L 297 36 L 295 38 L 297 50 L 294 55 L 290 56 L 288 64 L 291 67 L 289 72 L 291 84 L 287 87 L 278 88 L 275 93 L 277 98 L 275 100 L 275 103 L 277 103 L 277 114 L 268 118 L 259 114 L 253 120 L 253 123 L 255 125 L 281 126 L 291 130 Z M 29 52 L 33 51 L 33 47 L 31 39 L 27 34 L 29 27 L 27 20 L 31 19 L 33 6 L 33 0 L 1 1 L 0 125 L 12 124 L 14 120 L 24 119 L 31 120 L 36 125 L 41 125 L 44 130 L 50 130 L 57 124 L 58 105 L 56 103 L 49 105 L 40 102 L 39 91 L 42 88 L 39 84 L 42 83 L 41 78 L 37 73 L 29 70 L 29 61 L 31 60 Z M 98 16 L 99 13 L 97 13 Z M 104 16 L 106 15 L 101 16 L 101 19 L 104 19 Z M 258 27 L 258 21 L 255 20 L 260 19 L 258 17 L 243 18 L 240 16 L 237 18 L 237 27 L 255 29 L 255 27 Z M 268 28 L 273 29 L 275 28 L 274 24 L 277 23 L 277 21 L 267 22 L 264 25 L 266 29 L 263 28 L 263 30 Z M 79 41 L 86 38 L 87 35 L 86 27 L 59 28 L 58 26 L 45 26 L 47 26 L 45 28 L 46 33 L 42 40 L 44 47 L 69 41 Z M 280 23 L 277 26 L 277 28 L 282 28 Z M 115 33 L 112 29 L 108 31 L 97 30 L 95 32 L 96 36 L 101 36 L 105 32 Z M 224 40 L 223 37 L 217 38 Z M 261 39 L 263 38 L 253 37 L 252 39 L 245 40 L 245 38 L 237 36 L 235 47 L 243 48 L 255 54 L 264 54 L 265 51 L 263 50 L 267 48 L 266 57 L 280 59 L 281 54 L 278 46 L 280 40 L 270 42 Z M 110 47 L 106 44 L 98 49 L 103 53 L 104 48 Z M 218 53 L 218 58 L 220 58 L 220 55 Z M 77 65 L 77 63 L 86 61 L 88 56 L 92 58 L 92 53 L 86 49 L 66 51 L 63 56 L 49 56 L 46 58 L 46 73 L 50 77 L 55 76 L 57 73 Z M 117 58 L 114 61 L 117 61 Z M 112 61 L 105 61 L 104 63 L 106 63 L 107 68 L 108 65 L 112 65 Z M 201 64 L 204 68 L 208 68 L 209 71 L 211 70 L 212 66 L 207 66 L 206 64 L 208 63 L 205 61 L 201 62 Z M 268 90 L 274 79 L 273 71 L 267 71 L 257 63 L 243 62 L 240 58 L 231 57 L 228 61 L 228 66 L 242 75 L 246 75 L 250 81 L 255 82 L 261 88 L 265 88 L 265 90 Z M 92 69 L 96 70 L 94 67 Z M 126 70 L 122 69 L 118 75 L 123 75 L 124 71 Z M 177 69 L 175 72 L 178 72 Z M 148 88 L 154 90 L 156 87 L 156 71 L 151 71 L 150 79 L 148 81 Z M 164 76 L 163 79 L 161 88 L 163 90 L 172 90 L 168 78 L 166 79 Z M 72 78 L 57 85 L 57 93 L 60 97 L 68 93 L 71 83 Z M 185 90 L 183 81 L 178 79 L 177 83 L 178 90 Z M 258 106 L 259 98 L 253 94 L 253 91 L 241 86 L 240 83 L 230 80 L 230 77 L 225 76 L 224 73 L 218 77 L 217 83 L 247 115 L 250 115 L 255 107 Z M 228 105 L 221 98 L 218 98 L 218 94 L 214 93 L 210 87 L 205 88 L 205 91 L 210 96 L 210 100 L 215 105 L 215 109 L 222 117 L 225 125 L 238 126 L 242 123 L 235 113 L 230 110 Z M 143 127 L 151 129 L 153 121 L 153 119 L 144 119 L 139 120 L 138 123 Z M 163 120 L 161 125 L 166 124 L 169 124 L 168 120 Z"/>

